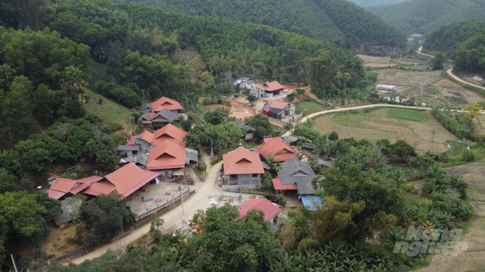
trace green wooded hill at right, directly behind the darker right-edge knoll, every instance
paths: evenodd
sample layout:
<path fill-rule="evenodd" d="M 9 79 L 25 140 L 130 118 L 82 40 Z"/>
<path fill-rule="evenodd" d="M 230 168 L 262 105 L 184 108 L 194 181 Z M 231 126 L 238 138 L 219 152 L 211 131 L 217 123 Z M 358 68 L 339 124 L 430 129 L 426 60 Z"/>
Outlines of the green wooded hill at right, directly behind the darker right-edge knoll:
<path fill-rule="evenodd" d="M 427 34 L 423 48 L 427 51 L 445 52 L 448 58 L 454 58 L 459 43 L 485 30 L 485 19 L 474 19 L 440 26 Z"/>

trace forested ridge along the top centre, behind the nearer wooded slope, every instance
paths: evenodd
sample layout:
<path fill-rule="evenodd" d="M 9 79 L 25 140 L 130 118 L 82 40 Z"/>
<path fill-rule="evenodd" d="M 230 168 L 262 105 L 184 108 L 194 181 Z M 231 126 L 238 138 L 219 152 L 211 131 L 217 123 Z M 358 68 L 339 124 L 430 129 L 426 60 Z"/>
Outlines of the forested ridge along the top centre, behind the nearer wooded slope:
<path fill-rule="evenodd" d="M 403 33 L 345 0 L 133 0 L 190 15 L 262 23 L 350 48 L 361 43 L 396 46 Z"/>

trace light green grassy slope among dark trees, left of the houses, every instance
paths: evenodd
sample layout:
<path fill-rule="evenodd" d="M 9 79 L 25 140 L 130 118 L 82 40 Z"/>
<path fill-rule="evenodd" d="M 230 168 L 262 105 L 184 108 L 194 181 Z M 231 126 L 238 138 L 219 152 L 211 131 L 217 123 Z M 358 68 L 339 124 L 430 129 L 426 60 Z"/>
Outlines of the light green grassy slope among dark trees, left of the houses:
<path fill-rule="evenodd" d="M 108 126 L 108 129 L 116 132 L 116 134 L 125 133 L 128 136 L 133 135 L 138 125 L 133 122 L 130 109 L 114 103 L 108 98 L 104 98 L 90 90 L 86 90 L 86 95 L 89 96 L 89 100 L 84 104 L 86 113 L 101 117 L 101 120 Z M 100 98 L 103 99 L 102 104 L 98 103 Z"/>

